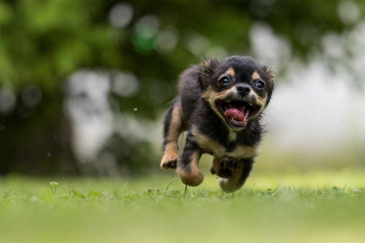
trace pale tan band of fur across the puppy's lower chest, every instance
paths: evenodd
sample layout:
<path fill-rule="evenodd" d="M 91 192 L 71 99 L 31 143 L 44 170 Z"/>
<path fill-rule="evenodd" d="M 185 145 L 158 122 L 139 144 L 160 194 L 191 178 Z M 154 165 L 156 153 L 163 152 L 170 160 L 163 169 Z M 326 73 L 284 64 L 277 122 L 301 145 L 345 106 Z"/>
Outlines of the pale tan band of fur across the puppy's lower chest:
<path fill-rule="evenodd" d="M 211 139 L 208 136 L 194 131 L 196 143 L 203 150 L 204 153 L 210 153 L 215 157 L 234 157 L 234 158 L 253 158 L 257 155 L 257 146 L 244 146 L 237 144 L 233 148 L 223 146 L 218 140 Z"/>

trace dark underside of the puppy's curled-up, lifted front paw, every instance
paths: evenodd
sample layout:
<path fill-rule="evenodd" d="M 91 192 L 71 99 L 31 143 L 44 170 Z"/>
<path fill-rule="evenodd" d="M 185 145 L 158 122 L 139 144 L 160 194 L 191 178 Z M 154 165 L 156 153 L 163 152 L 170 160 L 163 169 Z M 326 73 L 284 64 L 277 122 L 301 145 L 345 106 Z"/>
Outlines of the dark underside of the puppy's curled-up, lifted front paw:
<path fill-rule="evenodd" d="M 222 178 L 229 178 L 240 170 L 240 165 L 232 158 L 214 158 L 211 173 Z"/>

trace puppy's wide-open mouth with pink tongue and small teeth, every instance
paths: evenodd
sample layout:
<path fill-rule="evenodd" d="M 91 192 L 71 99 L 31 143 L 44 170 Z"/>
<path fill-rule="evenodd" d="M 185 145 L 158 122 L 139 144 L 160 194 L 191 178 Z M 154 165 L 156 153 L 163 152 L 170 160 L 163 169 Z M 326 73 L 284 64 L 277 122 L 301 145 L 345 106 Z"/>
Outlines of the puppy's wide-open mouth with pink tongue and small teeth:
<path fill-rule="evenodd" d="M 219 112 L 232 127 L 244 127 L 247 121 L 259 110 L 258 105 L 244 101 L 223 101 L 216 102 Z"/>

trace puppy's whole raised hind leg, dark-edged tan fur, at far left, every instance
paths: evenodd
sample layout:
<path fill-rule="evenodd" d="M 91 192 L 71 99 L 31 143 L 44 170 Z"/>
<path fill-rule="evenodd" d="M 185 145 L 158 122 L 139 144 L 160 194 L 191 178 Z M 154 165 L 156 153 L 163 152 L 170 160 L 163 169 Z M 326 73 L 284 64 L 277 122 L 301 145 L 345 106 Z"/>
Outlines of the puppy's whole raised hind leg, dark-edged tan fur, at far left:
<path fill-rule="evenodd" d="M 182 131 L 182 107 L 180 99 L 175 99 L 165 117 L 163 157 L 161 168 L 175 169 L 179 159 L 179 135 Z"/>

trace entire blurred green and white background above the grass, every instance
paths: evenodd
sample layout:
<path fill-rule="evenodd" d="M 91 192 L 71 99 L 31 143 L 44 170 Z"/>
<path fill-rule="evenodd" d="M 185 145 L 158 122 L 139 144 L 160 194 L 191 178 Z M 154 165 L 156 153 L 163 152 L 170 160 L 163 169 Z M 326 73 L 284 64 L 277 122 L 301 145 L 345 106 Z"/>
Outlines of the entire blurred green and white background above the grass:
<path fill-rule="evenodd" d="M 364 12 L 361 0 L 0 1 L 0 174 L 158 172 L 179 73 L 230 55 L 276 72 L 257 172 L 364 169 Z"/>

